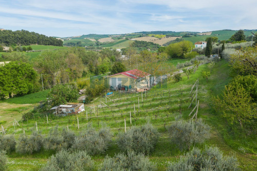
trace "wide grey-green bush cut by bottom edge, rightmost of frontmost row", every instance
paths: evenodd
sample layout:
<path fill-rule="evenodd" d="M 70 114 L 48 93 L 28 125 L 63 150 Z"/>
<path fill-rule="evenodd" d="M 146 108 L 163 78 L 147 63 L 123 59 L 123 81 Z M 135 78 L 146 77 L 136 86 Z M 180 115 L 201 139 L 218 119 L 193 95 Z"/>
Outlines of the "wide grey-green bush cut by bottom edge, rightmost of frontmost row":
<path fill-rule="evenodd" d="M 168 171 L 186 170 L 230 170 L 236 171 L 238 163 L 235 157 L 223 157 L 217 147 L 205 147 L 203 151 L 193 148 L 186 154 L 185 158 L 180 157 L 178 162 L 171 162 Z"/>

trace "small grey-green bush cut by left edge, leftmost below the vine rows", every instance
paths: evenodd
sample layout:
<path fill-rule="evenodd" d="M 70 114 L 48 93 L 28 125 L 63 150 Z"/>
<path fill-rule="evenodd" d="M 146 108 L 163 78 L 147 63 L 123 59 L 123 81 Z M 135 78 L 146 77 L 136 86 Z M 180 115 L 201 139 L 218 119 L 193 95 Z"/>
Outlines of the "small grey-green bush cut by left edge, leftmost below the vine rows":
<path fill-rule="evenodd" d="M 0 150 L 5 150 L 7 153 L 15 150 L 16 140 L 13 135 L 0 135 Z"/>

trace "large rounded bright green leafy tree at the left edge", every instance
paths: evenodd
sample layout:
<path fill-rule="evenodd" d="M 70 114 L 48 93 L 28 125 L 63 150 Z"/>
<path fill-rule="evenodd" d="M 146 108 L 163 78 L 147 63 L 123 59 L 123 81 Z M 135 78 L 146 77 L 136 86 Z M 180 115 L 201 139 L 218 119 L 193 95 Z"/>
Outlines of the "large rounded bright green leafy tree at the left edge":
<path fill-rule="evenodd" d="M 38 74 L 30 64 L 10 62 L 0 67 L 0 98 L 35 91 Z"/>

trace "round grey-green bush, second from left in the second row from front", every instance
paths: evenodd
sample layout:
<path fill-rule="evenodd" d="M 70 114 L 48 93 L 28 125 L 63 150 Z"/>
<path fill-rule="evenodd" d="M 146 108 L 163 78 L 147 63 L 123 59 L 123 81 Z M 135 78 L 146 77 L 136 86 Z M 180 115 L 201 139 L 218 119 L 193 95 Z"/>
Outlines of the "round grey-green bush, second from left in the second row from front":
<path fill-rule="evenodd" d="M 43 146 L 43 137 L 36 131 L 31 136 L 21 135 L 19 138 L 17 153 L 32 154 L 41 150 Z"/>

